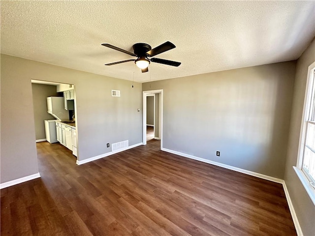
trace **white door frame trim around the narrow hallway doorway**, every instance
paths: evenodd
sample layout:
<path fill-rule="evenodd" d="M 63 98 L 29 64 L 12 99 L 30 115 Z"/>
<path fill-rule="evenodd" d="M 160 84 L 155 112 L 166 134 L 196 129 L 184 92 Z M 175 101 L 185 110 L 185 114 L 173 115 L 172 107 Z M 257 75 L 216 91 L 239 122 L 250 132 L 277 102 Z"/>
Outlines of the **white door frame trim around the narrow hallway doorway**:
<path fill-rule="evenodd" d="M 163 147 L 163 89 L 142 91 L 142 145 L 147 145 L 147 96 L 159 93 L 159 138 Z"/>

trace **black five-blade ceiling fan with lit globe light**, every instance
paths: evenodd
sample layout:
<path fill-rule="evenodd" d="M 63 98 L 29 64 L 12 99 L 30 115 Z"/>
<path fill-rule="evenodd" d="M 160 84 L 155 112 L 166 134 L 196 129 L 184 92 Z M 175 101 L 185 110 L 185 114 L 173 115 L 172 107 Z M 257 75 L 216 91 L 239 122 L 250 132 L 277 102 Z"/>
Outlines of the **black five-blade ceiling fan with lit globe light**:
<path fill-rule="evenodd" d="M 179 66 L 181 64 L 181 62 L 178 62 L 178 61 L 165 60 L 165 59 L 159 59 L 159 58 L 151 58 L 151 57 L 154 57 L 158 54 L 161 54 L 161 53 L 164 53 L 168 50 L 176 48 L 176 46 L 169 41 L 159 45 L 158 47 L 156 47 L 154 49 L 152 49 L 149 44 L 136 43 L 132 46 L 133 53 L 128 52 L 124 49 L 115 47 L 115 46 L 110 45 L 108 43 L 103 43 L 102 45 L 105 47 L 120 51 L 122 53 L 126 53 L 126 54 L 129 54 L 131 56 L 137 57 L 137 59 L 122 60 L 122 61 L 117 61 L 117 62 L 113 62 L 113 63 L 108 63 L 105 65 L 116 65 L 116 64 L 124 63 L 124 62 L 128 62 L 128 61 L 134 61 L 134 63 L 141 69 L 142 73 L 144 73 L 144 72 L 149 71 L 148 66 L 149 66 L 150 62 L 156 62 L 156 63 L 171 65 L 171 66 Z M 151 59 L 148 59 L 148 58 L 151 58 Z"/>

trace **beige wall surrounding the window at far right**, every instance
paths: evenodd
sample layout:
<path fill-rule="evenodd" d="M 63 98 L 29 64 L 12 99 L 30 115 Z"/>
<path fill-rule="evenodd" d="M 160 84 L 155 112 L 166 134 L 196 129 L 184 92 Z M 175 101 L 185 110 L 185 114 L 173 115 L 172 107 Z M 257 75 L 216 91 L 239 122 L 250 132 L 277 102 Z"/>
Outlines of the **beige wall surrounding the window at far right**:
<path fill-rule="evenodd" d="M 315 206 L 295 174 L 308 67 L 315 61 L 315 40 L 297 60 L 284 181 L 305 236 L 315 235 Z"/>

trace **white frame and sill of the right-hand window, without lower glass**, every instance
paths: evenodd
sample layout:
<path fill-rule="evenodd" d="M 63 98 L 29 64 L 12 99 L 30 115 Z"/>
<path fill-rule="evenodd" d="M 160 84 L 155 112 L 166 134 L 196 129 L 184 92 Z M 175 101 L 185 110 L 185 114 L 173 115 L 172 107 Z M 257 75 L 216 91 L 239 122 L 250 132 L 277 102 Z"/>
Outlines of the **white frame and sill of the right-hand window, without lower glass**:
<path fill-rule="evenodd" d="M 303 114 L 302 114 L 302 122 L 301 122 L 301 132 L 300 132 L 300 141 L 299 141 L 299 149 L 298 149 L 298 158 L 296 167 L 294 166 L 293 169 L 295 170 L 297 176 L 300 178 L 304 188 L 306 189 L 307 193 L 309 194 L 313 204 L 315 205 L 315 188 L 311 184 L 310 179 L 307 175 L 303 172 L 303 154 L 305 150 L 305 141 L 306 141 L 306 133 L 307 133 L 307 123 L 312 121 L 310 120 L 310 116 L 315 116 L 315 104 L 314 104 L 314 96 L 315 96 L 315 62 L 313 62 L 308 69 L 307 75 L 307 83 L 305 89 L 305 98 L 304 98 L 304 105 L 303 105 Z M 313 97 L 313 99 L 312 99 Z M 313 183 L 314 184 L 314 183 Z"/>

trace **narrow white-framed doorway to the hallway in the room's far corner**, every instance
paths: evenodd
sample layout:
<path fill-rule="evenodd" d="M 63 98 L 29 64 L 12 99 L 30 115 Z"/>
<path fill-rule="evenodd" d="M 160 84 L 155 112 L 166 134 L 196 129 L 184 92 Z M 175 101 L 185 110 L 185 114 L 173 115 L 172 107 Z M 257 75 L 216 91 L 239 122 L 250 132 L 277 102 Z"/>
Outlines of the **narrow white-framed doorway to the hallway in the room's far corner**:
<path fill-rule="evenodd" d="M 163 89 L 143 91 L 143 145 L 147 144 L 147 138 L 160 140 L 160 148 L 162 148 L 162 127 L 163 127 Z M 148 117 L 148 103 L 152 105 L 151 116 Z M 149 122 L 149 123 L 148 123 Z M 153 123 L 153 124 L 152 124 Z M 149 136 L 149 137 L 148 137 Z"/>

